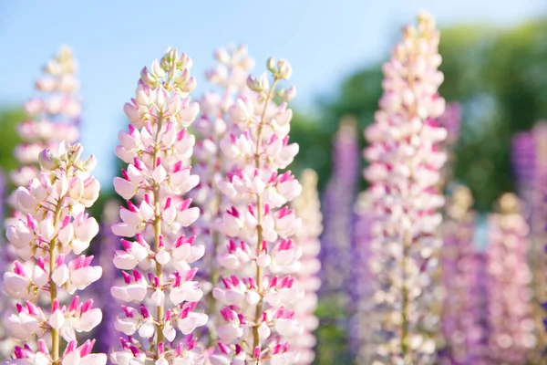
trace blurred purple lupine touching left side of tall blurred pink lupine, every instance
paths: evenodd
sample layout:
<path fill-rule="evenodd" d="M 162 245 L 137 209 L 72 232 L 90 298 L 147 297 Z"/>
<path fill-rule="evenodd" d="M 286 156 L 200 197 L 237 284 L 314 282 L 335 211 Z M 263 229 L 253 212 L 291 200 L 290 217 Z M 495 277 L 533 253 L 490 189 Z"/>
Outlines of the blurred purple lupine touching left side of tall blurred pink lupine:
<path fill-rule="evenodd" d="M 372 363 L 374 349 L 372 348 L 372 327 L 370 315 L 372 303 L 372 276 L 368 267 L 371 257 L 370 242 L 372 240 L 373 215 L 368 194 L 361 193 L 357 198 L 354 212 L 353 242 L 351 255 L 351 283 L 349 346 L 353 357 L 359 364 Z"/>

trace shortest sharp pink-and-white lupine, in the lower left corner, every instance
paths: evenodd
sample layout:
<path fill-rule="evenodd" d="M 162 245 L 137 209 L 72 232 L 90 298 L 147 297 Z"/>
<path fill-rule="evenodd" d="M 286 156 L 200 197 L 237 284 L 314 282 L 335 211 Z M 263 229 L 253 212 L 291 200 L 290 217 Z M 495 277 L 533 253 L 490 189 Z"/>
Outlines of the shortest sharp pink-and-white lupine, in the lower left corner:
<path fill-rule="evenodd" d="M 15 338 L 26 341 L 50 334 L 50 347 L 42 340 L 33 352 L 28 345 L 15 348 L 15 360 L 5 363 L 34 364 L 106 364 L 105 354 L 90 355 L 90 346 L 83 345 L 78 354 L 76 333 L 90 332 L 101 321 L 100 309 L 92 308 L 93 300 L 79 302 L 74 297 L 68 305 L 58 298 L 82 290 L 102 274 L 100 266 L 91 266 L 93 256 L 80 255 L 98 233 L 94 218 L 84 212 L 98 198 L 99 184 L 90 172 L 95 158 L 81 160 L 79 144 L 61 142 L 55 151 L 40 153 L 41 171 L 27 188 L 15 193 L 15 208 L 26 214 L 7 227 L 6 236 L 22 259 L 4 274 L 6 294 L 19 302 L 15 311 L 5 315 L 5 328 Z M 68 261 L 67 255 L 76 258 Z M 37 297 L 46 297 L 49 308 L 36 304 Z M 60 337 L 68 342 L 60 355 Z M 34 361 L 34 362 L 33 362 Z M 91 361 L 91 362 L 89 362 Z"/>

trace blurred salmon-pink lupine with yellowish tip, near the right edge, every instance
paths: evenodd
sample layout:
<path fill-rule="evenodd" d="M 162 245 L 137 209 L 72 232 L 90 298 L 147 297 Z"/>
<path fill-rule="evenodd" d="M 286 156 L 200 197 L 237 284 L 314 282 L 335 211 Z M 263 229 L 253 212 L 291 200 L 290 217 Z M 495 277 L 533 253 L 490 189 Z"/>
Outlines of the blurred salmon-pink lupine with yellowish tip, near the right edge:
<path fill-rule="evenodd" d="M 489 357 L 495 363 L 526 363 L 536 346 L 527 262 L 529 226 L 516 195 L 501 196 L 499 214 L 489 217 L 487 255 Z"/>

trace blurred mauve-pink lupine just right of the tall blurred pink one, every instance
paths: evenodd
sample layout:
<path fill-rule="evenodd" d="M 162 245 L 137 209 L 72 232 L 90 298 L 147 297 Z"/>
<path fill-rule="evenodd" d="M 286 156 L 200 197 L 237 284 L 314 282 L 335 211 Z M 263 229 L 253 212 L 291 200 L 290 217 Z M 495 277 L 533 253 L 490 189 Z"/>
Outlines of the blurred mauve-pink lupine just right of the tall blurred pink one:
<path fill-rule="evenodd" d="M 476 309 L 478 267 L 476 245 L 473 244 L 475 214 L 470 190 L 465 186 L 454 189 L 446 207 L 442 224 L 441 250 L 442 283 L 445 298 L 442 308 L 441 330 L 446 348 L 441 364 L 470 364 L 474 357 L 473 344 L 480 331 Z"/>

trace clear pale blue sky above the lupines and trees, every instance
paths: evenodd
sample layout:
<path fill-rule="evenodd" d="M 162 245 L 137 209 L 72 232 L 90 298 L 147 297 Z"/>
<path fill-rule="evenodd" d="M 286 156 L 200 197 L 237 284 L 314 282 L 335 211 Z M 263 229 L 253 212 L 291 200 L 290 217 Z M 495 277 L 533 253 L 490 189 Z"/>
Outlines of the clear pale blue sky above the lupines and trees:
<path fill-rule="evenodd" d="M 104 5 L 98 5 L 104 4 Z M 545 0 L 217 0 L 0 1 L 0 107 L 33 96 L 40 68 L 61 44 L 75 49 L 84 98 L 83 142 L 109 183 L 113 147 L 123 127 L 122 106 L 134 94 L 139 70 L 169 46 L 194 61 L 198 92 L 212 51 L 246 44 L 263 70 L 267 57 L 285 57 L 294 68 L 296 106 L 313 110 L 319 95 L 367 63 L 387 55 L 400 26 L 426 9 L 439 26 L 488 22 L 513 25 L 547 14 Z M 107 5 L 108 4 L 108 5 Z"/>

